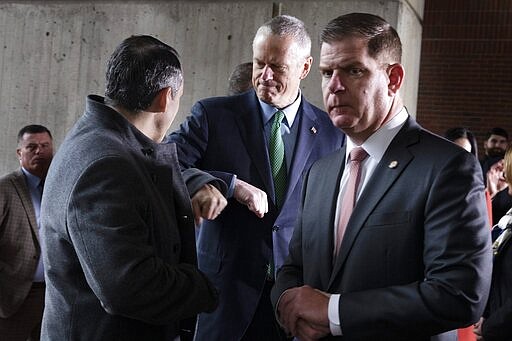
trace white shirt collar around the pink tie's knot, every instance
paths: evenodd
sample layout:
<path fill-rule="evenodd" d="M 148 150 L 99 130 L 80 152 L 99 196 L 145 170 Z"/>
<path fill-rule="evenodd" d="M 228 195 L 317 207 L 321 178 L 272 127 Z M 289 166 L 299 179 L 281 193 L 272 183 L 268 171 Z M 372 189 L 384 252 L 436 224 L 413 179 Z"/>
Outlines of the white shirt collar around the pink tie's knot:
<path fill-rule="evenodd" d="M 391 144 L 393 138 L 398 134 L 400 128 L 405 124 L 409 114 L 407 113 L 407 109 L 405 107 L 398 112 L 391 120 L 386 122 L 382 127 L 380 127 L 373 135 L 364 141 L 361 147 L 368 153 L 369 157 L 374 159 L 377 163 L 380 162 L 382 156 L 388 149 L 388 146 Z M 353 148 L 357 147 L 357 145 L 347 136 L 347 150 L 346 150 L 346 160 L 348 161 L 348 155 L 352 151 Z"/>

